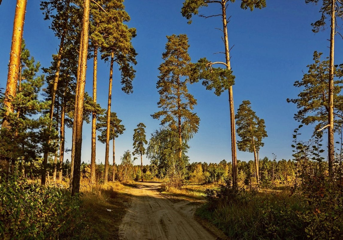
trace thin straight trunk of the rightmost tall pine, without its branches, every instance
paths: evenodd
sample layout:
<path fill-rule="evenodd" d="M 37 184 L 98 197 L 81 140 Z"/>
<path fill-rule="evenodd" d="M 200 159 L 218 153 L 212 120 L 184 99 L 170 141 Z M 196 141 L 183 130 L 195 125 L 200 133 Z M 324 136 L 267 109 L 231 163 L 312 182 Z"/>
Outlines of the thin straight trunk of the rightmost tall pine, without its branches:
<path fill-rule="evenodd" d="M 331 33 L 330 33 L 330 73 L 329 73 L 329 128 L 328 128 L 328 154 L 329 175 L 333 173 L 334 140 L 333 140 L 333 73 L 334 73 L 334 37 L 335 37 L 335 0 L 331 1 Z"/>

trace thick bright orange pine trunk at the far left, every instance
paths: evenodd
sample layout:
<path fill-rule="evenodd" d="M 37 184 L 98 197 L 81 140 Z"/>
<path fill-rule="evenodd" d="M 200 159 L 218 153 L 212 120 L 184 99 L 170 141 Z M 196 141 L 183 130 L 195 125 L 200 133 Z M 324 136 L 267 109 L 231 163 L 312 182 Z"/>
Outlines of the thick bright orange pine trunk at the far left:
<path fill-rule="evenodd" d="M 6 90 L 5 90 L 5 98 L 3 100 L 3 104 L 5 106 L 6 111 L 2 119 L 1 128 L 10 129 L 8 116 L 9 114 L 14 112 L 13 105 L 12 105 L 12 98 L 15 96 L 16 88 L 17 88 L 26 2 L 27 0 L 17 0 L 17 5 L 15 8 L 10 63 L 8 65 L 8 76 L 7 76 L 7 85 L 6 85 Z M 9 157 L 5 157 L 4 174 L 6 176 L 8 176 L 10 161 L 11 160 Z"/>

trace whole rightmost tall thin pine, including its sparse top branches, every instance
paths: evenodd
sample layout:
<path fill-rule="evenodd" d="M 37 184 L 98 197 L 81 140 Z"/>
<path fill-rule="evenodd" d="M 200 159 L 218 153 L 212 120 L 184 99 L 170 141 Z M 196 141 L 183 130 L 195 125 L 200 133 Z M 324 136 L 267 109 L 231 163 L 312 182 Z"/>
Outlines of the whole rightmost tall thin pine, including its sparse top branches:
<path fill-rule="evenodd" d="M 306 3 L 318 4 L 319 0 L 305 0 Z M 340 0 L 322 0 L 322 7 L 320 8 L 321 18 L 312 23 L 315 33 L 320 29 L 324 29 L 326 19 L 330 19 L 330 62 L 329 62 L 329 88 L 328 88 L 328 163 L 329 174 L 332 175 L 333 161 L 334 161 L 334 43 L 336 27 L 335 24 L 338 19 L 343 20 L 343 3 Z M 342 36 L 342 35 L 341 35 Z"/>

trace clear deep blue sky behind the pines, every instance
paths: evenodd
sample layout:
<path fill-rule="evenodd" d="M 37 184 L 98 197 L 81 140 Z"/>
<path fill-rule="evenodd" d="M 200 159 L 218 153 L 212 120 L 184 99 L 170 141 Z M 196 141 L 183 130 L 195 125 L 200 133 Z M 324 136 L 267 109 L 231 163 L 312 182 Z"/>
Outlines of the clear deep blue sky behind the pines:
<path fill-rule="evenodd" d="M 136 78 L 133 81 L 133 94 L 121 91 L 120 73 L 115 70 L 111 111 L 117 112 L 126 131 L 116 139 L 116 162 L 125 150 L 132 151 L 133 129 L 139 122 L 146 125 L 147 139 L 159 128 L 159 121 L 150 115 L 158 111 L 159 95 L 156 89 L 158 66 L 162 63 L 162 53 L 167 42 L 166 35 L 187 34 L 189 37 L 189 55 L 193 62 L 201 57 L 211 61 L 224 61 L 224 44 L 220 18 L 203 19 L 193 17 L 193 23 L 187 24 L 180 10 L 183 0 L 127 0 L 126 10 L 131 16 L 128 25 L 137 29 L 133 40 L 138 56 Z M 0 87 L 5 88 L 7 64 L 11 46 L 15 0 L 4 0 L 0 5 Z M 219 6 L 210 4 L 202 9 L 204 14 L 219 13 Z M 300 80 L 307 65 L 313 62 L 313 52 L 329 55 L 329 29 L 314 34 L 311 23 L 320 18 L 319 6 L 305 4 L 304 0 L 267 0 L 264 9 L 240 9 L 240 1 L 230 3 L 227 15 L 232 17 L 228 24 L 231 66 L 236 76 L 233 86 L 235 109 L 243 100 L 250 100 L 258 117 L 265 120 L 268 138 L 260 157 L 290 159 L 292 157 L 292 134 L 299 125 L 293 119 L 297 109 L 287 98 L 296 98 L 299 89 L 293 86 Z M 342 24 L 342 22 L 340 22 Z M 49 67 L 51 55 L 58 51 L 59 40 L 48 28 L 49 22 L 43 20 L 39 10 L 39 1 L 30 0 L 24 25 L 26 47 L 40 61 L 43 67 Z M 335 64 L 343 63 L 343 40 L 336 37 Z M 92 96 L 92 62 L 88 64 L 86 91 Z M 98 103 L 107 107 L 109 64 L 98 64 Z M 205 90 L 201 83 L 189 86 L 189 91 L 198 100 L 194 111 L 200 117 L 199 131 L 189 142 L 191 162 L 231 161 L 228 94 L 217 97 Z M 303 140 L 311 137 L 313 126 L 301 130 Z M 66 147 L 71 148 L 70 129 L 67 129 Z M 326 141 L 325 141 L 326 143 Z M 111 146 L 111 145 L 110 145 Z M 110 148 L 111 153 L 111 148 Z M 91 126 L 84 123 L 82 161 L 90 162 Z M 70 154 L 65 159 L 70 159 Z M 97 142 L 97 162 L 104 161 L 105 144 Z M 239 160 L 253 159 L 252 153 L 238 151 Z M 110 155 L 111 162 L 111 155 Z M 138 161 L 137 161 L 138 164 Z M 143 164 L 149 160 L 143 158 Z"/>

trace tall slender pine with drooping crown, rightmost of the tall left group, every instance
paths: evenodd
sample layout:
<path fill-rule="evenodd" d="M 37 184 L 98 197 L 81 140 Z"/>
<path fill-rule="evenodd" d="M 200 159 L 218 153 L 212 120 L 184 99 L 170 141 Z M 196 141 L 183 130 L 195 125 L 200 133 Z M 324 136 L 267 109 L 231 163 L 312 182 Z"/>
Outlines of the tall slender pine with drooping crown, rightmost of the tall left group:
<path fill-rule="evenodd" d="M 134 28 L 128 28 L 124 22 L 130 20 L 130 16 L 125 11 L 122 0 L 105 0 L 103 9 L 106 14 L 102 15 L 102 23 L 97 28 L 104 36 L 101 42 L 100 52 L 102 59 L 110 62 L 108 104 L 107 104 L 107 141 L 105 149 L 105 182 L 108 175 L 108 157 L 109 157 L 109 135 L 110 135 L 110 112 L 112 100 L 112 81 L 113 81 L 113 64 L 117 63 L 121 72 L 121 88 L 126 94 L 132 93 L 132 80 L 135 77 L 135 70 L 132 65 L 137 64 L 136 55 L 131 40 L 136 36 Z"/>

